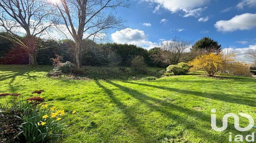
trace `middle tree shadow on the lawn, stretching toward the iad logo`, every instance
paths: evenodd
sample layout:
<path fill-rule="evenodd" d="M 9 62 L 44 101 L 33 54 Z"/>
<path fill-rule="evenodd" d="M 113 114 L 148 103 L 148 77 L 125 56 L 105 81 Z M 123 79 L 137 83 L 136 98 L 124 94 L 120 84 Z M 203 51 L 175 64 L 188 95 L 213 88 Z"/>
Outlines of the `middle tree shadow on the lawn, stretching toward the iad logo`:
<path fill-rule="evenodd" d="M 225 137 L 222 137 L 222 139 L 220 138 L 219 141 L 209 140 L 209 137 L 214 136 L 215 139 L 218 139 L 218 136 L 219 136 L 219 133 L 216 133 L 216 132 L 214 133 L 214 131 L 211 129 L 210 114 L 206 115 L 200 111 L 191 110 L 188 108 L 177 106 L 170 102 L 166 102 L 161 99 L 147 96 L 147 95 L 140 93 L 136 90 L 131 90 L 128 87 L 119 85 L 119 84 L 111 82 L 111 81 L 106 81 L 106 82 L 116 86 L 117 88 L 126 92 L 130 96 L 138 99 L 141 102 L 141 104 L 146 105 L 148 108 L 158 111 L 161 114 L 163 114 L 165 117 L 175 120 L 178 124 L 185 126 L 184 127 L 185 129 L 193 130 L 194 132 L 196 132 L 198 134 L 199 138 L 202 138 L 202 142 L 204 142 L 204 141 L 206 141 L 206 142 L 223 142 L 223 140 L 226 139 Z M 154 104 L 152 104 L 151 102 L 154 102 Z M 182 116 L 180 114 L 175 114 L 174 111 L 176 111 L 178 113 L 184 113 L 185 116 Z M 198 123 L 195 123 L 193 120 L 189 120 L 190 117 L 196 118 L 197 122 L 199 121 L 199 123 L 202 123 L 204 128 L 202 128 L 202 125 L 201 126 L 198 125 Z M 217 120 L 217 122 L 222 123 L 221 120 Z M 231 124 L 231 125 L 233 125 L 233 124 Z M 205 126 L 207 126 L 207 127 L 205 127 Z M 237 130 L 230 128 L 230 127 L 228 127 L 228 130 L 232 131 L 232 133 L 237 133 L 237 134 L 241 133 L 241 132 L 238 132 Z M 247 132 L 247 133 L 249 134 L 250 132 Z M 226 132 L 226 134 L 228 137 L 228 132 Z"/>

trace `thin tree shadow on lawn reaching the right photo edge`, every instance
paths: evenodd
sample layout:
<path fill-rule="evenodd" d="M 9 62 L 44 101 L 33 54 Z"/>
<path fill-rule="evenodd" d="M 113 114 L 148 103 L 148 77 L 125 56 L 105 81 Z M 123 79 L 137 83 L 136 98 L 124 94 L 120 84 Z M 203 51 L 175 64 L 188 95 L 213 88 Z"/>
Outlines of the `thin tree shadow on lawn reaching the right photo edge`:
<path fill-rule="evenodd" d="M 202 92 L 198 92 L 198 91 L 168 88 L 165 86 L 157 86 L 157 85 L 130 82 L 130 81 L 125 81 L 125 83 L 137 84 L 137 85 L 141 85 L 141 86 L 148 86 L 148 87 L 152 87 L 152 88 L 168 90 L 171 92 L 176 92 L 176 93 L 181 93 L 181 94 L 190 94 L 190 95 L 200 96 L 200 97 L 204 97 L 204 98 L 211 98 L 211 99 L 217 99 L 220 101 L 226 101 L 226 102 L 230 102 L 230 103 L 234 103 L 234 104 L 241 104 L 241 105 L 256 107 L 256 104 L 255 104 L 256 98 L 255 97 L 248 97 L 248 96 L 245 97 L 245 96 L 241 96 L 241 95 L 234 96 L 234 95 L 229 95 L 229 94 L 224 94 L 224 93 L 221 93 L 221 95 L 214 94 L 214 93 L 202 93 Z"/>

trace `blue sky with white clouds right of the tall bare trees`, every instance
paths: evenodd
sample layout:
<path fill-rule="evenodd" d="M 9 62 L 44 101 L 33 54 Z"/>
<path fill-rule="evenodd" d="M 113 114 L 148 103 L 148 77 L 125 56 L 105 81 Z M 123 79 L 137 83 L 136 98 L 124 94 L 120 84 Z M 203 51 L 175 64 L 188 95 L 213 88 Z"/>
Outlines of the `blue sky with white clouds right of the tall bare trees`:
<path fill-rule="evenodd" d="M 194 42 L 209 36 L 224 48 L 256 49 L 256 0 L 130 0 L 130 4 L 117 10 L 129 29 L 112 34 L 114 42 L 149 49 L 175 36 Z"/>

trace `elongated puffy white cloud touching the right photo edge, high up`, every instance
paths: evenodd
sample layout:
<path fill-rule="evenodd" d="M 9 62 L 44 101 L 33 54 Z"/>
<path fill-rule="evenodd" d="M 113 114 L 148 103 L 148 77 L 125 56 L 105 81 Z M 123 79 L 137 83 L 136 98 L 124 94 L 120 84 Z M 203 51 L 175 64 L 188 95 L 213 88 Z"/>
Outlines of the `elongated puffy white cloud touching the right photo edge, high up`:
<path fill-rule="evenodd" d="M 217 21 L 214 26 L 218 31 L 224 32 L 249 30 L 256 26 L 256 14 L 245 13 L 236 15 L 230 20 Z"/>

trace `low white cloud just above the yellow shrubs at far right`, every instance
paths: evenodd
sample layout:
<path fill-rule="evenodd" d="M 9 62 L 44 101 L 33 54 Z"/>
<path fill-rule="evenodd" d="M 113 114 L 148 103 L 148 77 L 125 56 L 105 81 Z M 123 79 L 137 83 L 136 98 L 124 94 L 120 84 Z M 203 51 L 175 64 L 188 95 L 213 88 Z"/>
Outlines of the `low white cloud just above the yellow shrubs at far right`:
<path fill-rule="evenodd" d="M 249 47 L 245 47 L 245 48 L 233 48 L 233 47 L 229 47 L 229 48 L 224 48 L 223 52 L 238 52 L 238 58 L 246 61 L 246 53 L 248 50 L 256 50 L 256 44 L 255 45 L 249 45 Z"/>

